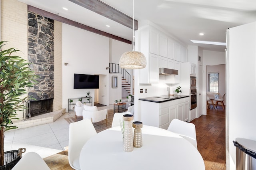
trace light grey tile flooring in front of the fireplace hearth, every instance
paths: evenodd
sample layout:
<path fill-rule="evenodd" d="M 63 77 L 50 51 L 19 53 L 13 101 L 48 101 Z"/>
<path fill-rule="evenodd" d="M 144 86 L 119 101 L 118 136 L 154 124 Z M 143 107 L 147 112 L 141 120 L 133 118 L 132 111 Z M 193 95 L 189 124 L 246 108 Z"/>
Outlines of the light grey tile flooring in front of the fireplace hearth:
<path fill-rule="evenodd" d="M 113 109 L 113 105 L 98 107 L 98 110 Z M 4 150 L 26 148 L 26 152 L 36 152 L 42 158 L 65 150 L 68 146 L 69 124 L 65 118 L 73 117 L 74 111 L 64 113 L 53 123 L 4 132 Z"/>

